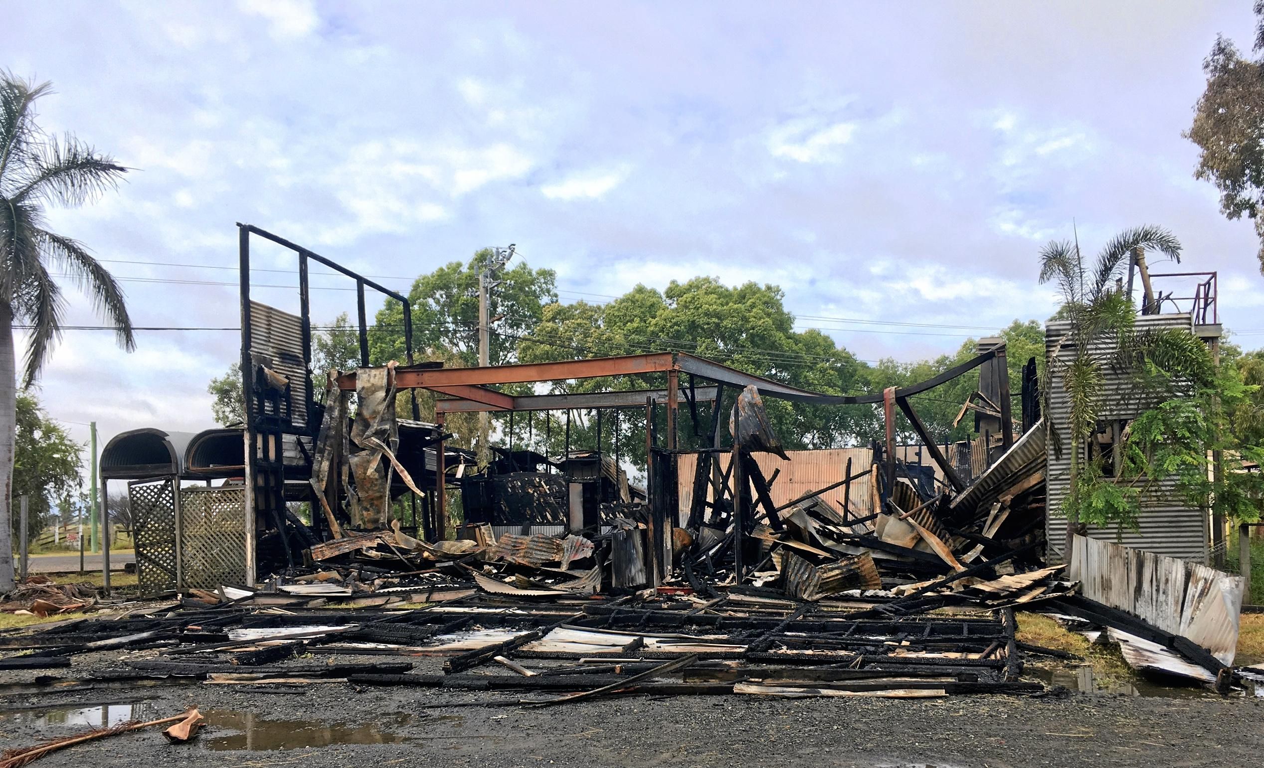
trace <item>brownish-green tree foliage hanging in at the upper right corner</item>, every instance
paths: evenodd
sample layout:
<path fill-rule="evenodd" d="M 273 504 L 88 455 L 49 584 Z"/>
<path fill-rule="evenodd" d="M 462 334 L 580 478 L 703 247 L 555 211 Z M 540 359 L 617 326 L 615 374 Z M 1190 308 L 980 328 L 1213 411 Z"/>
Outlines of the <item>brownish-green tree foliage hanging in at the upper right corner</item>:
<path fill-rule="evenodd" d="M 1216 35 L 1202 63 L 1207 87 L 1194 105 L 1193 125 L 1184 136 L 1198 145 L 1194 178 L 1220 189 L 1220 210 L 1227 219 L 1246 216 L 1260 237 L 1264 272 L 1264 0 L 1255 3 L 1254 59 L 1232 42 Z"/>

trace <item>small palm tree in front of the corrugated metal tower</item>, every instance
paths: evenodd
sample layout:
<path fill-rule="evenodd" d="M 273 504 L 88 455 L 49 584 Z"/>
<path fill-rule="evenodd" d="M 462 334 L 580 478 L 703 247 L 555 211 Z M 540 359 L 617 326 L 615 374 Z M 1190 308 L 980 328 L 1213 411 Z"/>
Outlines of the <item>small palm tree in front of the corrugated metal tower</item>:
<path fill-rule="evenodd" d="M 1210 357 L 1202 342 L 1191 333 L 1174 330 L 1136 332 L 1136 307 L 1121 287 L 1120 279 L 1129 258 L 1157 250 L 1177 261 L 1181 243 L 1168 230 L 1140 226 L 1116 235 L 1097 254 L 1090 268 L 1076 241 L 1052 241 L 1040 250 L 1040 283 L 1054 282 L 1062 293 L 1057 317 L 1071 322 L 1064 336 L 1055 340 L 1049 355 L 1042 389 L 1045 393 L 1045 428 L 1054 450 L 1062 451 L 1059 427 L 1069 437 L 1071 490 L 1067 499 L 1067 541 L 1064 557 L 1071 557 L 1076 528 L 1079 524 L 1081 469 L 1085 446 L 1097 428 L 1103 400 L 1106 366 L 1139 375 L 1139 387 L 1148 399 L 1179 394 L 1182 383 L 1208 378 Z M 1090 346 L 1106 341 L 1115 349 L 1110 357 L 1092 355 Z M 1058 352 L 1069 347 L 1068 359 Z M 1068 423 L 1054 424 L 1048 407 L 1049 383 L 1058 374 L 1069 403 Z M 1143 376 L 1141 374 L 1150 375 Z M 1164 389 L 1167 388 L 1167 389 Z M 1143 470 L 1144 471 L 1144 470 Z"/>

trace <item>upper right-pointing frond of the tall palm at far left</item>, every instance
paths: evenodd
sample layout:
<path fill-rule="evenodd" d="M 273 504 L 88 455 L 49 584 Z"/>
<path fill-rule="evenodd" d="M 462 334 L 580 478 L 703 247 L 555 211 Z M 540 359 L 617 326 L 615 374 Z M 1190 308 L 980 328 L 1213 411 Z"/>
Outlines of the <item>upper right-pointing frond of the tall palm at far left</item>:
<path fill-rule="evenodd" d="M 91 147 L 67 134 L 44 141 L 32 153 L 27 173 L 13 200 L 30 198 L 80 206 L 101 193 L 115 189 L 128 169 L 109 155 L 97 154 Z"/>

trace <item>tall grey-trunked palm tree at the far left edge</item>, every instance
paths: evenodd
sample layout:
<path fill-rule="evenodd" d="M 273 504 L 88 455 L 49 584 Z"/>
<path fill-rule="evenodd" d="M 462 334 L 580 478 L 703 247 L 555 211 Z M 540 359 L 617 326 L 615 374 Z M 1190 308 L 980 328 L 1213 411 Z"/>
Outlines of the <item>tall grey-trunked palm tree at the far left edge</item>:
<path fill-rule="evenodd" d="M 0 592 L 13 589 L 13 485 L 16 365 L 14 328 L 28 332 L 23 387 L 38 376 L 61 333 L 64 299 L 56 277 L 70 277 L 131 351 L 123 291 L 85 248 L 46 227 L 44 206 L 80 206 L 116 187 L 126 168 L 72 135 L 57 138 L 35 123 L 35 85 L 0 71 Z M 54 272 L 49 272 L 53 268 Z"/>

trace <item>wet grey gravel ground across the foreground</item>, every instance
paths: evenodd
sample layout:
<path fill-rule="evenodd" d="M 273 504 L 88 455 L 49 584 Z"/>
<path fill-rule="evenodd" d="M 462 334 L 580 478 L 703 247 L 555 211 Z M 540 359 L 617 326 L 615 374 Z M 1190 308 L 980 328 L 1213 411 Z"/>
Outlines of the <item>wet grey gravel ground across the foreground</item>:
<path fill-rule="evenodd" d="M 319 657 L 321 658 L 321 657 Z M 303 659 L 311 663 L 313 659 Z M 337 661 L 387 661 L 339 657 Z M 393 659 L 391 659 L 393 661 Z M 73 677 L 116 666 L 76 657 Z M 420 659 L 418 671 L 435 671 Z M 27 682 L 34 672 L 0 673 Z M 306 693 L 163 685 L 0 697 L 0 749 L 110 716 L 155 719 L 198 706 L 192 744 L 157 729 L 76 745 L 48 765 L 1250 765 L 1264 755 L 1264 699 L 1062 693 L 938 700 L 629 696 L 530 709 L 504 693 L 319 683 Z M 68 710 L 97 707 L 86 717 Z M 58 723 L 62 720 L 62 723 Z"/>

